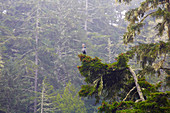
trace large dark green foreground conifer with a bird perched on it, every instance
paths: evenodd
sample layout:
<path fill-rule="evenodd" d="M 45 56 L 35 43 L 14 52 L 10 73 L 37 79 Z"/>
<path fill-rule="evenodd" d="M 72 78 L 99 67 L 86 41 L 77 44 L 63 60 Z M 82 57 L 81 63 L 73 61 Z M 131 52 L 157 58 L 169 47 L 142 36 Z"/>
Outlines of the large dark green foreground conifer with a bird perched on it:
<path fill-rule="evenodd" d="M 130 1 L 125 0 L 125 2 L 129 3 Z M 83 97 L 95 96 L 97 102 L 100 99 L 105 100 L 98 108 L 99 112 L 166 113 L 170 111 L 168 107 L 170 105 L 168 99 L 170 93 L 158 90 L 161 82 L 152 85 L 145 79 L 146 75 L 166 75 L 169 79 L 169 68 L 167 66 L 170 48 L 169 9 L 169 0 L 146 0 L 142 2 L 139 8 L 131 9 L 126 13 L 126 19 L 130 23 L 127 32 L 124 34 L 125 44 L 133 42 L 134 37 L 140 34 L 145 19 L 148 16 L 153 16 L 162 20 L 162 22 L 156 24 L 155 28 L 158 29 L 158 33 L 155 35 L 161 37 L 166 35 L 164 31 L 167 31 L 166 42 L 138 44 L 126 53 L 120 54 L 117 57 L 117 62 L 112 64 L 101 63 L 97 57 L 79 55 L 82 65 L 78 66 L 78 69 L 87 83 L 87 85 L 82 86 L 79 95 Z M 128 60 L 134 57 L 141 65 L 141 69 L 136 71 L 130 65 L 127 65 Z M 138 95 L 136 95 L 136 92 L 138 92 Z"/>

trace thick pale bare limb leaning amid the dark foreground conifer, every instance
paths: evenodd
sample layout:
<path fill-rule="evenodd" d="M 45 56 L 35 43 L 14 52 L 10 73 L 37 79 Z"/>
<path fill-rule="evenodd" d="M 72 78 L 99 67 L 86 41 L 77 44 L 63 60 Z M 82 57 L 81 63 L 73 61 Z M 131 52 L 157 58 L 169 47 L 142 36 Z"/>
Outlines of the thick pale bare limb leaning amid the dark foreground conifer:
<path fill-rule="evenodd" d="M 132 75 L 133 75 L 133 78 L 134 78 L 134 81 L 135 81 L 135 85 L 136 85 L 136 88 L 137 88 L 137 92 L 138 92 L 138 94 L 139 94 L 140 99 L 141 99 L 142 101 L 145 101 L 145 99 L 144 99 L 144 97 L 143 97 L 143 93 L 142 93 L 142 91 L 141 91 L 141 88 L 140 88 L 140 86 L 139 86 L 139 84 L 138 84 L 138 78 L 137 78 L 135 72 L 133 71 L 133 69 L 132 69 L 131 67 L 129 67 L 129 70 L 130 70 L 130 72 L 131 72 Z"/>

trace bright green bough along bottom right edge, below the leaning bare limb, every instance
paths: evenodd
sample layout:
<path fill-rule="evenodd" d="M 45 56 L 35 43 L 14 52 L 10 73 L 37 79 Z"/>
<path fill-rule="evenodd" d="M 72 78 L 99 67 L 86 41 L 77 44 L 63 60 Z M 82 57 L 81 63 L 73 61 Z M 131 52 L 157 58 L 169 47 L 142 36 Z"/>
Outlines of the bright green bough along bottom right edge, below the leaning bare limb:
<path fill-rule="evenodd" d="M 122 101 L 112 104 L 103 102 L 98 109 L 100 113 L 168 113 L 170 111 L 169 97 L 170 92 L 150 93 L 146 101 Z"/>

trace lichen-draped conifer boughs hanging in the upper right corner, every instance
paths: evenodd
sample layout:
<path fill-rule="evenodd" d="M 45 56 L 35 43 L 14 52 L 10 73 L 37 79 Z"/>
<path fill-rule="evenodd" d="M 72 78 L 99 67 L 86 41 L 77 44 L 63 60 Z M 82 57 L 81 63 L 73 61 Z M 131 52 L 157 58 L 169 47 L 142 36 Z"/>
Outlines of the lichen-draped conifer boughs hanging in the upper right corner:
<path fill-rule="evenodd" d="M 126 1 L 128 2 L 128 1 Z M 154 10 L 153 10 L 154 9 Z M 148 18 L 155 19 L 155 29 L 157 32 L 155 37 L 159 37 L 159 42 L 138 44 L 132 47 L 129 58 L 133 58 L 136 54 L 137 62 L 141 64 L 141 74 L 157 73 L 161 75 L 163 70 L 167 73 L 167 80 L 169 80 L 169 49 L 170 48 L 170 1 L 169 0 L 146 0 L 143 1 L 138 8 L 131 9 L 126 13 L 126 20 L 129 21 L 127 32 L 124 34 L 124 43 L 133 42 L 137 38 L 137 34 L 142 32 Z M 159 21 L 156 21 L 159 20 Z M 149 31 L 148 31 L 149 32 Z M 167 32 L 167 33 L 166 33 Z M 166 41 L 162 41 L 162 36 L 167 37 Z"/>

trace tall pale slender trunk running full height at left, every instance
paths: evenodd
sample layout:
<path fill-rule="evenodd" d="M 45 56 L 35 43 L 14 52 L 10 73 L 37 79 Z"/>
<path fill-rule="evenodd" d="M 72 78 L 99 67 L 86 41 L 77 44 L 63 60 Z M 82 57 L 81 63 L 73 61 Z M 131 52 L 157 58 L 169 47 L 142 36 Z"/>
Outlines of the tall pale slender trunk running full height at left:
<path fill-rule="evenodd" d="M 39 38 L 39 1 L 37 3 L 37 12 L 36 12 L 36 28 L 35 28 L 35 81 L 34 81 L 34 113 L 37 112 L 37 80 L 38 80 L 38 38 Z"/>

